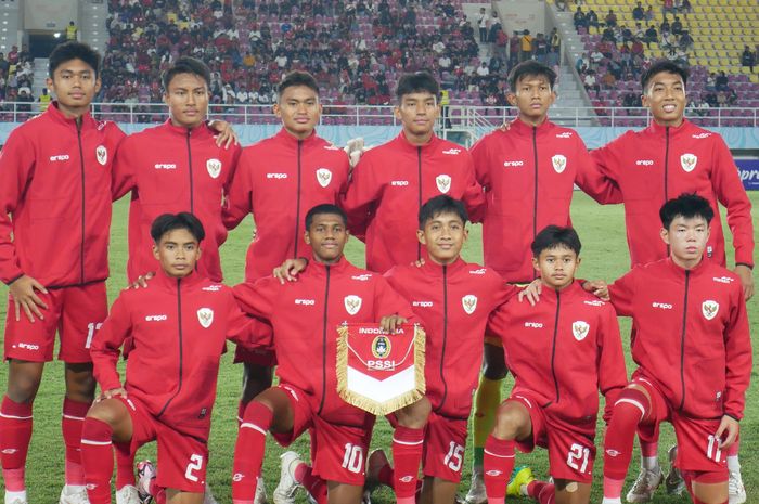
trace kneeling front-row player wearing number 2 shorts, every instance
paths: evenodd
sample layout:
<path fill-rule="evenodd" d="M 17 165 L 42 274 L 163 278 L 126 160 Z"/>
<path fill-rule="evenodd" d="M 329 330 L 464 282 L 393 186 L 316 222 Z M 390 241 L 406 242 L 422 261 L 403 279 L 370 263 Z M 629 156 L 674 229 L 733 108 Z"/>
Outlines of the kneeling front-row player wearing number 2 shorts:
<path fill-rule="evenodd" d="M 124 290 L 92 340 L 102 396 L 81 435 L 91 504 L 111 502 L 113 444 L 131 456 L 158 442 L 158 503 L 200 504 L 205 490 L 210 414 L 227 338 L 246 329 L 230 288 L 195 272 L 205 236 L 191 214 L 165 214 L 152 225 L 162 272 L 146 288 Z M 129 353 L 121 385 L 119 348 Z"/>

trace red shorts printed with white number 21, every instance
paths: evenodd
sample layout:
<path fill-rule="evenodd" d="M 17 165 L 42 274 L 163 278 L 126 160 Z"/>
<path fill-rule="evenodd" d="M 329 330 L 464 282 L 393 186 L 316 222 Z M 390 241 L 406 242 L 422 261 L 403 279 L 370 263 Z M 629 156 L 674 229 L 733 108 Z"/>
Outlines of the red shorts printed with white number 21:
<path fill-rule="evenodd" d="M 520 452 L 530 453 L 536 445 L 545 448 L 554 479 L 593 482 L 595 418 L 587 425 L 570 424 L 543 410 L 532 396 L 524 391 L 507 400 L 527 408 L 532 423 L 532 437 L 516 442 Z"/>

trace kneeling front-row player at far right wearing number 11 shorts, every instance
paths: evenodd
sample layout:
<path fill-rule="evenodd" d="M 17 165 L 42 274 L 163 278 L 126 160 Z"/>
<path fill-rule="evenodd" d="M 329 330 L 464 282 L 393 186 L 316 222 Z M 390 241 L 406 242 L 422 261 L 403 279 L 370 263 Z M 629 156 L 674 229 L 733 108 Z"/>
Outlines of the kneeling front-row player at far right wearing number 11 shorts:
<path fill-rule="evenodd" d="M 665 421 L 674 426 L 674 465 L 693 501 L 728 503 L 725 455 L 738 436 L 751 341 L 745 285 L 706 259 L 712 205 L 695 194 L 667 202 L 660 235 L 670 258 L 635 267 L 609 286 L 617 313 L 632 316 L 639 367 L 606 431 L 605 504 L 621 502 L 635 428 L 642 441 L 655 440 Z"/>

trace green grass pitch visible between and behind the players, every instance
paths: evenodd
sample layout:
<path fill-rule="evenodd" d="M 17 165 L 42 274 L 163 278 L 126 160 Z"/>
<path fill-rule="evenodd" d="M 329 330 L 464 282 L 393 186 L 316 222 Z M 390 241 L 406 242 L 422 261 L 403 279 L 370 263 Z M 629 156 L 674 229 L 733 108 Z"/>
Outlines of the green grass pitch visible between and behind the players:
<path fill-rule="evenodd" d="M 756 207 L 759 204 L 759 193 L 750 194 L 751 202 Z M 625 273 L 628 269 L 629 257 L 625 240 L 625 223 L 621 206 L 601 207 L 584 194 L 576 193 L 573 202 L 573 222 L 582 240 L 582 266 L 579 274 L 586 279 L 614 280 Z M 127 202 L 123 199 L 114 206 L 113 225 L 111 230 L 111 271 L 112 279 L 108 281 L 108 299 L 113 300 L 118 295 L 119 289 L 125 287 L 125 266 L 127 259 L 127 244 L 125 236 L 127 224 Z M 227 244 L 221 249 L 227 282 L 232 285 L 243 279 L 243 267 L 245 251 L 249 242 L 253 222 L 245 220 L 234 232 L 232 232 Z M 755 230 L 756 236 L 756 230 Z M 728 243 L 732 243 L 728 240 Z M 730 247 L 729 247 L 730 248 Z M 51 253 L 54 253 L 51 250 Z M 351 240 L 347 249 L 348 258 L 355 263 L 363 264 L 363 245 L 357 240 Z M 469 241 L 464 250 L 464 257 L 468 261 L 481 262 L 481 240 L 478 225 L 472 227 Z M 7 288 L 0 287 L 4 295 Z M 759 297 L 759 296 L 758 296 Z M 0 315 L 4 321 L 5 305 L 0 306 Z M 759 334 L 759 301 L 757 298 L 749 301 L 748 313 L 751 321 L 751 333 Z M 3 322 L 4 326 L 4 322 Z M 626 349 L 629 346 L 627 335 L 630 324 L 627 320 L 620 319 L 620 328 Z M 757 350 L 754 350 L 755 361 Z M 218 398 L 214 410 L 214 427 L 210 438 L 210 462 L 208 466 L 208 481 L 210 482 L 217 500 L 221 504 L 231 502 L 230 482 L 232 473 L 232 454 L 236 437 L 236 406 L 237 396 L 241 389 L 242 369 L 232 365 L 232 352 L 222 358 Z M 628 372 L 633 365 L 628 360 Z M 757 373 L 752 373 L 756 380 Z M 0 390 L 5 390 L 8 373 L 0 372 Z M 506 387 L 511 387 L 511 382 L 506 380 Z M 61 438 L 61 404 L 63 400 L 63 365 L 60 362 L 48 364 L 42 386 L 35 402 L 35 432 L 31 440 L 27 464 L 27 486 L 29 502 L 33 504 L 56 503 L 61 486 L 63 484 L 63 441 Z M 759 503 L 759 392 L 757 384 L 749 389 L 746 406 L 746 415 L 742 426 L 742 449 L 741 457 L 743 464 L 743 477 L 746 483 L 749 503 Z M 673 442 L 671 427 L 662 429 L 659 457 L 662 465 L 666 465 L 666 450 Z M 469 437 L 471 443 L 471 437 Z M 372 448 L 384 448 L 389 453 L 390 431 L 388 424 L 381 419 L 374 434 Z M 299 440 L 292 448 L 301 456 L 308 456 L 307 438 Z M 269 495 L 279 480 L 280 467 L 279 455 L 283 450 L 276 443 L 269 441 L 267 447 L 267 457 L 263 464 L 265 477 Z M 155 460 L 154 445 L 145 447 L 139 457 L 150 457 Z M 465 474 L 461 484 L 461 492 L 465 493 L 468 487 L 472 447 L 467 447 L 467 458 Z M 528 464 L 536 470 L 539 477 L 546 476 L 545 452 L 537 450 L 529 455 L 517 455 L 517 464 Z M 636 476 L 638 454 L 633 456 L 633 463 L 628 481 L 625 487 L 627 491 Z M 601 461 L 595 464 L 595 479 L 592 502 L 601 500 Z M 298 496 L 298 502 L 306 502 L 303 492 Z M 373 502 L 385 504 L 394 502 L 394 499 L 386 489 L 378 490 L 373 494 Z M 526 502 L 526 500 L 522 500 Z M 659 490 L 655 497 L 657 503 L 689 502 L 686 496 L 670 497 Z"/>

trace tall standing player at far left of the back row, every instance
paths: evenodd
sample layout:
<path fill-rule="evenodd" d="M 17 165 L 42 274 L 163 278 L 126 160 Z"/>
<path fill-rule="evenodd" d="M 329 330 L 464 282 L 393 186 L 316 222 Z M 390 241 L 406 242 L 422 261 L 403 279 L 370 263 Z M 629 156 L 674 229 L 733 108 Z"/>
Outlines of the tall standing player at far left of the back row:
<path fill-rule="evenodd" d="M 79 444 L 95 389 L 89 347 L 107 315 L 111 164 L 124 138 L 116 125 L 90 116 L 99 70 L 100 55 L 88 46 L 55 48 L 47 86 L 56 100 L 16 128 L 0 156 L 0 279 L 10 294 L 0 405 L 5 504 L 27 502 L 31 408 L 56 331 L 66 380 L 60 502 L 87 502 Z"/>

